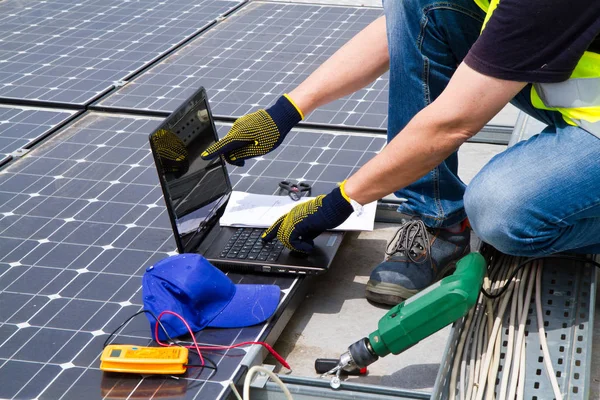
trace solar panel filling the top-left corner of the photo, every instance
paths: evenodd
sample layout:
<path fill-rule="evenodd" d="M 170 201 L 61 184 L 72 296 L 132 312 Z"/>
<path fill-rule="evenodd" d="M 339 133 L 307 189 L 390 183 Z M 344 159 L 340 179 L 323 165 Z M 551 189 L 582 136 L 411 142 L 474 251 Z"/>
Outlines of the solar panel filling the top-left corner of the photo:
<path fill-rule="evenodd" d="M 0 98 L 84 105 L 240 0 L 0 2 Z"/>

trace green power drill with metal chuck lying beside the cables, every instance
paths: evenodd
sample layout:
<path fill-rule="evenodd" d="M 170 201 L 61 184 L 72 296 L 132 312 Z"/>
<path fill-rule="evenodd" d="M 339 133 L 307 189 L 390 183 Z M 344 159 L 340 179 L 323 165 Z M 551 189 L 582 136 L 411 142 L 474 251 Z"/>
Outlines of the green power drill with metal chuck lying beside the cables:
<path fill-rule="evenodd" d="M 470 253 L 456 264 L 456 271 L 392 308 L 379 320 L 376 331 L 348 347 L 335 368 L 331 386 L 340 385 L 340 374 L 365 368 L 388 354 L 400 354 L 422 339 L 465 316 L 479 296 L 486 263 Z"/>

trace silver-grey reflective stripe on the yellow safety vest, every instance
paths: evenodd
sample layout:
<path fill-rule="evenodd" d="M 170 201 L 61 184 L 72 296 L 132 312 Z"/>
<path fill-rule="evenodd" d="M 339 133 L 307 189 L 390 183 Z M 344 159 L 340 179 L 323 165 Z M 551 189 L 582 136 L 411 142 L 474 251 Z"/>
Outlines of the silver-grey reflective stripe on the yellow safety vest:
<path fill-rule="evenodd" d="M 600 78 L 575 78 L 559 83 L 534 84 L 546 107 L 600 106 Z"/>

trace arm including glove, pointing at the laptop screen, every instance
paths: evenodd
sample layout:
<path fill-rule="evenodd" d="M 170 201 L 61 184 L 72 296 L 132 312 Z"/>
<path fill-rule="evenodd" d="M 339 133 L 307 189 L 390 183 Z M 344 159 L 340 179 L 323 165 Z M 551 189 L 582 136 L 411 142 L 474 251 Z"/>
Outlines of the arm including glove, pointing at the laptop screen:
<path fill-rule="evenodd" d="M 237 119 L 229 133 L 202 157 L 224 155 L 227 162 L 242 166 L 244 160 L 276 149 L 290 130 L 317 107 L 368 85 L 388 68 L 385 17 L 380 17 L 271 107 Z"/>

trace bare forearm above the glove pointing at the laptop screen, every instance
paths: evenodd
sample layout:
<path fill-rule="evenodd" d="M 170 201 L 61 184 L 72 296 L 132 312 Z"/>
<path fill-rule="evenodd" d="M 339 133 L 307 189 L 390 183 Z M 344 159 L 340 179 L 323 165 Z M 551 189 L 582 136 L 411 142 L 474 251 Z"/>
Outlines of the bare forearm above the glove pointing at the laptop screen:
<path fill-rule="evenodd" d="M 385 17 L 325 61 L 289 95 L 304 115 L 367 86 L 389 68 Z"/>

